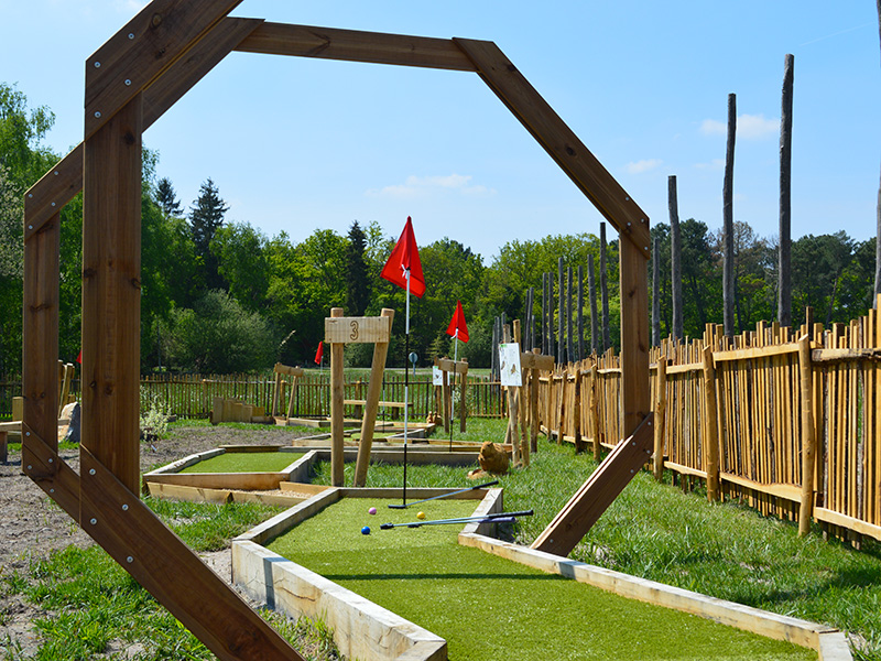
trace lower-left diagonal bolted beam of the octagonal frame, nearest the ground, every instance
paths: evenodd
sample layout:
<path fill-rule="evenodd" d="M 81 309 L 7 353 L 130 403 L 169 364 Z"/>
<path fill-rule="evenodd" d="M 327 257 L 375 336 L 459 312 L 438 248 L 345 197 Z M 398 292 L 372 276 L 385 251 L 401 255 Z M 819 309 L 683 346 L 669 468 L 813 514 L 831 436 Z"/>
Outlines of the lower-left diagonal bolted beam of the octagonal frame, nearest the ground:
<path fill-rule="evenodd" d="M 302 657 L 88 449 L 83 529 L 220 661 Z"/>

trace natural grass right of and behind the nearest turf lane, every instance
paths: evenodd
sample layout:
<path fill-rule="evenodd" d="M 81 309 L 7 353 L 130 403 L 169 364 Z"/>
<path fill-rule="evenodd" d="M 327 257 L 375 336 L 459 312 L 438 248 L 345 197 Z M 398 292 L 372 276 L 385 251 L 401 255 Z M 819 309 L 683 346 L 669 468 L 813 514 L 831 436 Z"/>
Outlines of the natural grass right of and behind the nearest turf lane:
<path fill-rule="evenodd" d="M 500 442 L 504 421 L 469 420 L 455 438 Z M 504 508 L 534 509 L 512 531 L 529 545 L 596 468 L 590 453 L 576 455 L 540 437 L 525 470 L 500 477 Z M 329 465 L 314 481 L 329 484 Z M 346 466 L 346 484 L 351 484 Z M 410 466 L 411 487 L 468 487 L 466 468 Z M 373 465 L 368 487 L 400 487 L 400 466 Z M 803 539 L 797 524 L 762 517 L 733 501 L 708 503 L 705 492 L 683 494 L 641 473 L 602 514 L 569 557 L 817 621 L 866 640 L 855 649 L 861 661 L 881 661 L 881 543 L 866 538 L 861 551 L 825 541 L 818 527 Z"/>

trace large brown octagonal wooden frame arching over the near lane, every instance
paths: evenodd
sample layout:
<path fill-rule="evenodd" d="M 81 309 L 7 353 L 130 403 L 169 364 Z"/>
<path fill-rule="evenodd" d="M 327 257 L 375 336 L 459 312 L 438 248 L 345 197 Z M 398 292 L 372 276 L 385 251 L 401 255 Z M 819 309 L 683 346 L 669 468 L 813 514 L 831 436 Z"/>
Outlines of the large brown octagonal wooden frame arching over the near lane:
<path fill-rule="evenodd" d="M 626 435 L 651 425 L 651 240 L 648 216 L 494 43 L 228 17 L 239 3 L 153 0 L 86 62 L 84 142 L 24 201 L 22 464 L 219 659 L 290 660 L 300 655 L 138 496 L 143 131 L 232 51 L 477 73 L 621 236 Z M 59 214 L 80 189 L 84 388 L 77 475 L 58 457 L 56 424 Z M 573 497 L 536 542 L 540 549 L 567 554 L 575 546 L 599 516 L 592 494 L 601 491 L 601 501 L 610 502 L 629 480 L 622 462 L 641 465 L 651 453 L 651 433 L 633 440 L 635 454 L 623 453 L 622 459 L 612 453 L 603 466 L 612 462 L 621 469 L 601 466 L 599 478 Z M 586 518 L 587 510 L 592 513 Z"/>

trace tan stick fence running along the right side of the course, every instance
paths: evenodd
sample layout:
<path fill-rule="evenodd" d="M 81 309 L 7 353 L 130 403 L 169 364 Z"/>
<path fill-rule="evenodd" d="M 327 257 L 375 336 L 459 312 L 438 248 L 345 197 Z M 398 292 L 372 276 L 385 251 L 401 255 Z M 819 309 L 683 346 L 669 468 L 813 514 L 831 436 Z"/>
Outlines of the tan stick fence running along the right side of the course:
<path fill-rule="evenodd" d="M 541 379 L 551 437 L 620 441 L 617 360 L 607 353 Z M 841 538 L 881 539 L 881 313 L 797 333 L 759 324 L 733 338 L 709 325 L 700 339 L 654 348 L 651 369 L 657 475 L 672 470 L 684 488 L 704 480 L 709 498 L 813 518 Z"/>

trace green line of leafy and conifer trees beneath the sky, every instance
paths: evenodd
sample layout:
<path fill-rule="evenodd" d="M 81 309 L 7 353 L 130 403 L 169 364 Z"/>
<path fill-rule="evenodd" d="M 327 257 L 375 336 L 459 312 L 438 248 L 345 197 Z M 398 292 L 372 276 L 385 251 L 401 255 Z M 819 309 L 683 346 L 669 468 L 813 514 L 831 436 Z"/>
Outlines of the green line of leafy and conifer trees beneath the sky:
<path fill-rule="evenodd" d="M 17 88 L 0 84 L 0 373 L 21 369 L 22 216 L 24 192 L 59 158 L 41 142 L 52 127 L 47 108 L 29 109 Z M 268 237 L 249 221 L 227 218 L 228 207 L 210 178 L 184 208 L 173 182 L 157 175 L 155 154 L 145 151 L 142 196 L 141 361 L 143 371 L 233 372 L 275 361 L 311 365 L 330 307 L 347 315 L 396 311 L 389 364 L 403 365 L 404 292 L 379 278 L 403 218 L 354 220 L 347 235 L 315 230 L 296 242 L 285 232 Z M 79 351 L 83 201 L 62 212 L 59 351 L 73 361 Z M 259 224 L 259 219 L 253 219 Z M 320 219 L 317 219 L 320 223 Z M 719 232 L 689 219 L 681 224 L 685 333 L 699 335 L 721 319 Z M 670 231 L 657 224 L 664 274 L 660 288 L 662 332 L 670 332 Z M 389 232 L 394 232 L 390 236 Z M 418 232 L 417 232 L 418 234 Z M 815 310 L 818 321 L 848 321 L 870 306 L 874 241 L 856 242 L 844 232 L 805 237 L 793 243 L 793 307 Z M 736 241 L 737 321 L 741 329 L 775 315 L 775 246 L 738 224 Z M 411 300 L 411 350 L 420 364 L 452 355 L 445 330 L 460 300 L 470 342 L 459 356 L 490 364 L 493 319 L 523 318 L 526 292 L 535 288 L 541 318 L 542 274 L 558 259 L 577 269 L 600 241 L 592 234 L 547 236 L 505 243 L 489 264 L 459 241 L 445 238 L 420 247 L 427 292 Z M 618 344 L 617 241 L 607 252 L 611 342 Z M 651 268 L 651 267 L 650 267 Z M 650 271 L 651 272 L 651 271 Z M 599 279 L 599 277 L 598 277 Z M 554 305 L 557 292 L 554 292 Z M 590 303 L 585 300 L 585 317 Z M 795 313 L 797 314 L 797 313 Z M 589 324 L 586 344 L 589 346 Z M 601 328 L 602 324 L 598 324 Z M 601 332 L 601 330 L 600 330 Z M 601 343 L 598 343 L 601 347 Z M 351 365 L 367 365 L 369 345 L 347 348 Z"/>

